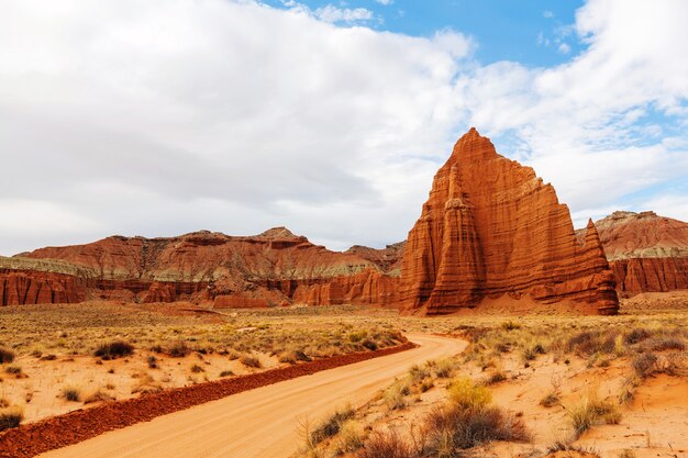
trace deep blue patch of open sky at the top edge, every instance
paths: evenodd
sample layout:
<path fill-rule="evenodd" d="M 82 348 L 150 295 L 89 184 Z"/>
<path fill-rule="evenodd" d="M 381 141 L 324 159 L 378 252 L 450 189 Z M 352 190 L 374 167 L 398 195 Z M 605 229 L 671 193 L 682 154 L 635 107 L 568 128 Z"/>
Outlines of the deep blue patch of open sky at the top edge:
<path fill-rule="evenodd" d="M 289 9 L 289 2 L 270 0 L 275 8 Z M 475 38 L 476 58 L 482 64 L 517 60 L 529 66 L 561 64 L 585 47 L 572 24 L 581 1 L 551 0 L 375 0 L 342 2 L 301 1 L 312 10 L 336 5 L 365 9 L 370 19 L 353 23 L 375 30 L 413 36 L 432 36 L 444 29 L 460 31 Z M 559 47 L 562 47 L 559 49 Z"/>

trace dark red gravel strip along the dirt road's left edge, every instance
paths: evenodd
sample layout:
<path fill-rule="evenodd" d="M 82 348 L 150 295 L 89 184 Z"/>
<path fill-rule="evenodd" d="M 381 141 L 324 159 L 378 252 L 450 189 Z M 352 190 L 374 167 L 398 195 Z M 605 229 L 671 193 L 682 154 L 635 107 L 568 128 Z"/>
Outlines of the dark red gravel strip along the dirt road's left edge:
<path fill-rule="evenodd" d="M 148 422 L 156 416 L 241 393 L 242 391 L 391 355 L 414 347 L 414 344 L 407 342 L 391 348 L 334 356 L 297 366 L 238 376 L 232 379 L 173 388 L 141 398 L 106 402 L 96 407 L 73 411 L 65 415 L 29 423 L 0 433 L 0 458 L 34 457 L 55 448 L 80 443 L 108 431 Z"/>

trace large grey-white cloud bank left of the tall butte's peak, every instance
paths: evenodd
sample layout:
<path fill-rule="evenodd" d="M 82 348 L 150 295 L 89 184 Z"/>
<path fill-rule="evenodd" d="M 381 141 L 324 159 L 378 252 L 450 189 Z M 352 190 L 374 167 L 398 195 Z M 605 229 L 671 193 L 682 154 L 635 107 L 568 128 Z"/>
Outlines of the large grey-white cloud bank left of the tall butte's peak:
<path fill-rule="evenodd" d="M 462 116 L 463 35 L 343 29 L 246 1 L 75 4 L 0 4 L 0 203 L 14 209 L 1 254 L 281 224 L 336 248 L 406 237 Z M 409 161 L 419 188 L 387 186 Z M 68 209 L 71 236 L 19 200 Z M 376 212 L 393 216 L 382 232 Z"/>

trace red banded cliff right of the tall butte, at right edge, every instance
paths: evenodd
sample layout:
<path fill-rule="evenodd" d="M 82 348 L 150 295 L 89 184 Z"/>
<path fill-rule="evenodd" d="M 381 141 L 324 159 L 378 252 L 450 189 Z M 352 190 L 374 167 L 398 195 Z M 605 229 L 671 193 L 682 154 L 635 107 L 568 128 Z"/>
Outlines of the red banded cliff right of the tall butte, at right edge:
<path fill-rule="evenodd" d="M 688 223 L 654 212 L 614 212 L 596 225 L 620 294 L 688 289 Z"/>

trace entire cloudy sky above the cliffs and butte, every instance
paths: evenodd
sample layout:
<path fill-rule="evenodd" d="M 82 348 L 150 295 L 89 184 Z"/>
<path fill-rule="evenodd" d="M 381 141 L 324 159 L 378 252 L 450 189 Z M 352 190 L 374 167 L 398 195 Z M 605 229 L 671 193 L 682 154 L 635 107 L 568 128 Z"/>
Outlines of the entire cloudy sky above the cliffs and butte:
<path fill-rule="evenodd" d="M 575 225 L 688 221 L 684 0 L 0 0 L 0 255 L 407 237 L 470 126 Z"/>

